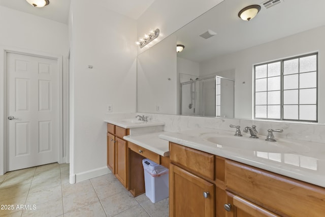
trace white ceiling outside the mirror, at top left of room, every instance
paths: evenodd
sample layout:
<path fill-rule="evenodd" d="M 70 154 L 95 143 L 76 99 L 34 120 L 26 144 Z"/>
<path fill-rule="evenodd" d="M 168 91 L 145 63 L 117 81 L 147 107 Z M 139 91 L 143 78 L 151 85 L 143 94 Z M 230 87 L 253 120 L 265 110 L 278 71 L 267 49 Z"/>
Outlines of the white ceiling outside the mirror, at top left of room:
<path fill-rule="evenodd" d="M 0 5 L 17 11 L 68 24 L 71 0 L 49 0 L 44 8 L 34 8 L 25 0 L 0 0 Z M 155 0 L 92 0 L 100 6 L 137 20 Z"/>

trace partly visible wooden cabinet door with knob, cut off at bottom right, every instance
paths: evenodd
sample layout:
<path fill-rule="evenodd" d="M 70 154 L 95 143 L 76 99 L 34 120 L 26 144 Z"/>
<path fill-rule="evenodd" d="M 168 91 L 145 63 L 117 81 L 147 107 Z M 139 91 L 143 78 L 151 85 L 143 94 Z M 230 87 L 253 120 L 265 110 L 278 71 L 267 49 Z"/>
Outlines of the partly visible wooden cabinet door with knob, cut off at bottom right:
<path fill-rule="evenodd" d="M 260 207 L 248 200 L 245 200 L 237 195 L 227 192 L 227 203 L 225 207 L 228 208 L 226 212 L 227 217 L 279 217 L 263 207 Z"/>

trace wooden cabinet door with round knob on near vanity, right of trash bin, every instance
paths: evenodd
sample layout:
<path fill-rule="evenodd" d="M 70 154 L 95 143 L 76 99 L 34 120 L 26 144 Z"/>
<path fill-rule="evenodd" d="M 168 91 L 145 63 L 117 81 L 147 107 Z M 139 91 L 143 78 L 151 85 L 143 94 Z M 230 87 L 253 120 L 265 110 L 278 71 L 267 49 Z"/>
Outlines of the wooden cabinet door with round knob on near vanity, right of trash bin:
<path fill-rule="evenodd" d="M 170 216 L 214 216 L 214 184 L 170 164 Z"/>

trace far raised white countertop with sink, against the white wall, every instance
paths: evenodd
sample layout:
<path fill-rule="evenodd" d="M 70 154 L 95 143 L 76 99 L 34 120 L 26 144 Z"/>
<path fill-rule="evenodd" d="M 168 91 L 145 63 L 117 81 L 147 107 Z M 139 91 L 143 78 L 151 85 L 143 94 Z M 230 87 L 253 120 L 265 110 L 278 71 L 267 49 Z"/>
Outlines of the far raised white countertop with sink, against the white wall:
<path fill-rule="evenodd" d="M 131 120 L 131 121 L 130 121 Z M 107 123 L 112 123 L 113 125 L 119 126 L 125 129 L 132 128 L 145 128 L 145 127 L 154 127 L 154 126 L 164 126 L 165 122 L 162 121 L 137 121 L 137 118 L 110 118 L 104 120 Z M 132 122 L 137 121 L 137 122 Z"/>

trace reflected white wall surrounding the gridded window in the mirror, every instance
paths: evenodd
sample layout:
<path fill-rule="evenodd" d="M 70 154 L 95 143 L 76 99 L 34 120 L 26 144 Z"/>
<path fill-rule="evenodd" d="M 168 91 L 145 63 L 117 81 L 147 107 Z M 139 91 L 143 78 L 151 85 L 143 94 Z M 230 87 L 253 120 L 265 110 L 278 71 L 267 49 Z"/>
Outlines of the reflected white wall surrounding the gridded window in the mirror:
<path fill-rule="evenodd" d="M 200 76 L 235 69 L 235 117 L 251 119 L 252 76 L 253 65 L 255 64 L 318 51 L 318 81 L 320 81 L 318 92 L 325 92 L 325 85 L 323 85 L 325 81 L 325 55 L 322 54 L 322 51 L 325 51 L 324 38 L 325 26 L 322 26 L 233 54 L 218 56 L 205 63 L 200 63 Z M 318 99 L 318 105 L 319 108 L 325 108 L 323 97 Z M 319 112 L 318 122 L 324 123 L 325 114 L 323 111 Z"/>

